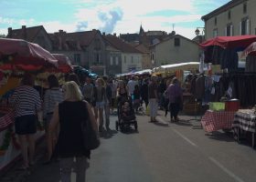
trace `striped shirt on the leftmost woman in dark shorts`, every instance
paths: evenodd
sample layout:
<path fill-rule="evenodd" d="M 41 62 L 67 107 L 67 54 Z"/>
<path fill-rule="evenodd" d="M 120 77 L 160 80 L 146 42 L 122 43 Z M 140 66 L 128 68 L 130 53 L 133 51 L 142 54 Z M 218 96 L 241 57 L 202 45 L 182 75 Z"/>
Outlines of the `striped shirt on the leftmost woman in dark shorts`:
<path fill-rule="evenodd" d="M 18 86 L 11 98 L 15 107 L 15 117 L 36 115 L 41 109 L 41 99 L 37 90 L 31 86 Z"/>

